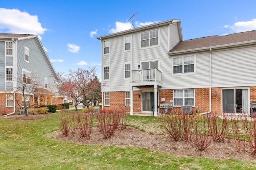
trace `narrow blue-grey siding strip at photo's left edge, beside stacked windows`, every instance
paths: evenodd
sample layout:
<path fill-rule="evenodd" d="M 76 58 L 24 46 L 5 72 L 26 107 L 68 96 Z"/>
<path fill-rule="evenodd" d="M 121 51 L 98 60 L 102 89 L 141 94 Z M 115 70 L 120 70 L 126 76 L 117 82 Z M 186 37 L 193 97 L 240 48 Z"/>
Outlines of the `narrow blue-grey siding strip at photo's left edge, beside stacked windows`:
<path fill-rule="evenodd" d="M 4 74 L 5 74 L 5 66 L 4 66 L 4 41 L 0 41 L 0 90 L 5 90 L 4 89 Z"/>

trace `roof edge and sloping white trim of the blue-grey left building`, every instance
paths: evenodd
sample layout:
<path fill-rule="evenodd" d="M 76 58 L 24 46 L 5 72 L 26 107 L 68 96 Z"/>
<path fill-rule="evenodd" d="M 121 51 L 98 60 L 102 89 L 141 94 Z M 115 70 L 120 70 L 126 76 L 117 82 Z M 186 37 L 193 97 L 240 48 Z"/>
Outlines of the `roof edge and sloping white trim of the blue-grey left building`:
<path fill-rule="evenodd" d="M 34 38 L 38 44 L 38 46 L 40 47 L 44 58 L 46 59 L 48 65 L 50 66 L 52 73 L 54 74 L 54 77 L 58 80 L 58 76 L 56 71 L 54 70 L 52 63 L 46 53 L 46 51 L 44 50 L 44 47 L 40 41 L 40 39 L 38 38 L 37 35 L 33 35 L 33 34 L 12 34 L 12 33 L 0 33 L 0 39 L 12 39 L 12 40 L 22 40 L 22 39 L 30 39 L 30 38 Z"/>

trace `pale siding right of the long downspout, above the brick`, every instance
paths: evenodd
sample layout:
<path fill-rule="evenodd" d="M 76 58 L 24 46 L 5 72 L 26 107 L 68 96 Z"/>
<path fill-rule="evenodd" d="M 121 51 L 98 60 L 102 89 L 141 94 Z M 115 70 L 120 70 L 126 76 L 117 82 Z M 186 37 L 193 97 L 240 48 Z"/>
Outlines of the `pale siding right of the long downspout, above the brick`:
<path fill-rule="evenodd" d="M 256 46 L 212 52 L 212 86 L 256 86 Z"/>

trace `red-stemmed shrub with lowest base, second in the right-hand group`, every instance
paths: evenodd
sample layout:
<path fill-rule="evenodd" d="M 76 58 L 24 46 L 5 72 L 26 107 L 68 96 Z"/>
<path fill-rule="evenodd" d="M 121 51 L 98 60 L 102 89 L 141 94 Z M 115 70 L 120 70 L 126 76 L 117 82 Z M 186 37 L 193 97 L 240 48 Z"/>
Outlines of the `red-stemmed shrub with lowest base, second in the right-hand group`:
<path fill-rule="evenodd" d="M 207 125 L 207 119 L 206 117 L 203 117 L 202 119 L 195 119 L 194 121 L 195 128 L 193 135 L 190 136 L 190 145 L 203 151 L 212 141 L 212 136 L 210 135 Z"/>

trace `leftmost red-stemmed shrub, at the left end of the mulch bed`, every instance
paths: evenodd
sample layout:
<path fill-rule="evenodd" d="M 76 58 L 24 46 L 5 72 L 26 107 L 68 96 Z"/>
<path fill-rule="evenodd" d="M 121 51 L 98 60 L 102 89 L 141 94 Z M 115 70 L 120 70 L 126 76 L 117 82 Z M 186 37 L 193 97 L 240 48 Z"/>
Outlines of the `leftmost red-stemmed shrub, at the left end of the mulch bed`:
<path fill-rule="evenodd" d="M 60 131 L 63 135 L 68 136 L 72 126 L 72 119 L 69 112 L 62 112 L 60 117 Z"/>

